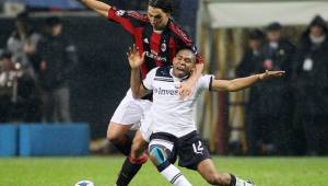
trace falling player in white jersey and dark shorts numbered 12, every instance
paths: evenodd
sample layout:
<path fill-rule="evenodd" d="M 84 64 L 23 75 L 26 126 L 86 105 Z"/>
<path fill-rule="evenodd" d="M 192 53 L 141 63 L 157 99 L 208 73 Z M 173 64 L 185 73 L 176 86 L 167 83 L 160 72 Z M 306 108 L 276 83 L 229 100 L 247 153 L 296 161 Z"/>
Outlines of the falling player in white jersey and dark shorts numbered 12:
<path fill-rule="evenodd" d="M 130 48 L 127 55 L 131 67 L 130 85 L 133 96 L 141 97 L 150 91 L 153 92 L 153 104 L 147 116 L 149 125 L 142 124 L 140 131 L 144 140 L 150 141 L 150 159 L 159 172 L 173 185 L 191 185 L 173 165 L 178 156 L 180 166 L 197 170 L 211 185 L 254 186 L 251 182 L 215 170 L 207 147 L 197 133 L 192 119 L 194 105 L 202 90 L 239 91 L 258 81 L 282 77 L 284 71 L 266 71 L 235 80 L 218 80 L 213 75 L 202 75 L 192 95 L 180 100 L 177 86 L 188 80 L 195 68 L 196 57 L 191 50 L 178 50 L 173 59 L 173 67 L 154 68 L 143 81 L 140 79 L 139 67 L 144 55 L 140 57 L 136 46 Z"/>

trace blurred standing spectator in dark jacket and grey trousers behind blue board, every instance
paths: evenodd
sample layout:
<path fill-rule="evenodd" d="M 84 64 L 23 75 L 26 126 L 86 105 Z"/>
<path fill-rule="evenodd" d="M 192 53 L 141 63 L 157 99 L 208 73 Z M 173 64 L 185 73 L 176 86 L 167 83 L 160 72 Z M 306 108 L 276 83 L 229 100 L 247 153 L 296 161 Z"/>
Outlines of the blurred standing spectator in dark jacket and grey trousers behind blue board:
<path fill-rule="evenodd" d="M 62 34 L 57 16 L 46 20 L 45 35 L 38 45 L 37 69 L 42 89 L 43 119 L 47 123 L 70 123 L 69 78 L 78 62 L 75 46 Z"/>

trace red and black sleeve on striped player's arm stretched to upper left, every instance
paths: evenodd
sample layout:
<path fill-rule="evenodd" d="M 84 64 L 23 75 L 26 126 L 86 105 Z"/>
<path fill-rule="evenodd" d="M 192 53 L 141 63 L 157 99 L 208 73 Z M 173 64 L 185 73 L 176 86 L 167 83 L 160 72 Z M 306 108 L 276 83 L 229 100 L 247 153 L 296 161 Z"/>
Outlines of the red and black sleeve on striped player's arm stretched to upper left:
<path fill-rule="evenodd" d="M 116 8 L 109 9 L 108 20 L 120 24 L 130 34 L 133 34 L 137 27 L 148 22 L 147 15 L 137 11 L 118 10 Z"/>

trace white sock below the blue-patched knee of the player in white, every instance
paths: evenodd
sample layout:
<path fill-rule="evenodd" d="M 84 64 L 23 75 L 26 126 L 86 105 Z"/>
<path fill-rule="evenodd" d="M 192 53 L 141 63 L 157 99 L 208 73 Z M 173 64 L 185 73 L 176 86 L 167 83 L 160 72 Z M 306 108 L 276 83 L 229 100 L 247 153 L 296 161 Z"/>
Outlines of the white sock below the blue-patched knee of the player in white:
<path fill-rule="evenodd" d="M 161 174 L 175 186 L 192 186 L 183 173 L 173 164 L 169 164 Z"/>

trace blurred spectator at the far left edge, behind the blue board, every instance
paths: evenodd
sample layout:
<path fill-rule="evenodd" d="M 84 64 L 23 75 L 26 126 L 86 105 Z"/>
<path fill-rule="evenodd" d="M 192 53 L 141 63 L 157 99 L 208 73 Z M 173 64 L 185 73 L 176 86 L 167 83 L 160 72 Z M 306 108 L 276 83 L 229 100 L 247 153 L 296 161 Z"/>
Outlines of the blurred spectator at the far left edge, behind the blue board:
<path fill-rule="evenodd" d="M 39 121 L 39 102 L 34 79 L 23 66 L 0 54 L 0 123 Z"/>

